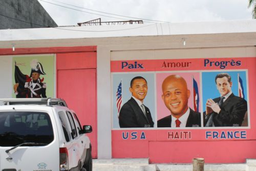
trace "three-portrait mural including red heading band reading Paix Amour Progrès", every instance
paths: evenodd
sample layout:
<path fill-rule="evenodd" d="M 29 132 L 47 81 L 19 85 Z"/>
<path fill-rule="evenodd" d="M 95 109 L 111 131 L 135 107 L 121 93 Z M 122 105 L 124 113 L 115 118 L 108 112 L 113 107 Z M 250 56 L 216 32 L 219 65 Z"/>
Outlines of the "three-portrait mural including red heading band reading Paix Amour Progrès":
<path fill-rule="evenodd" d="M 113 129 L 249 126 L 247 70 L 220 60 L 112 61 Z"/>

